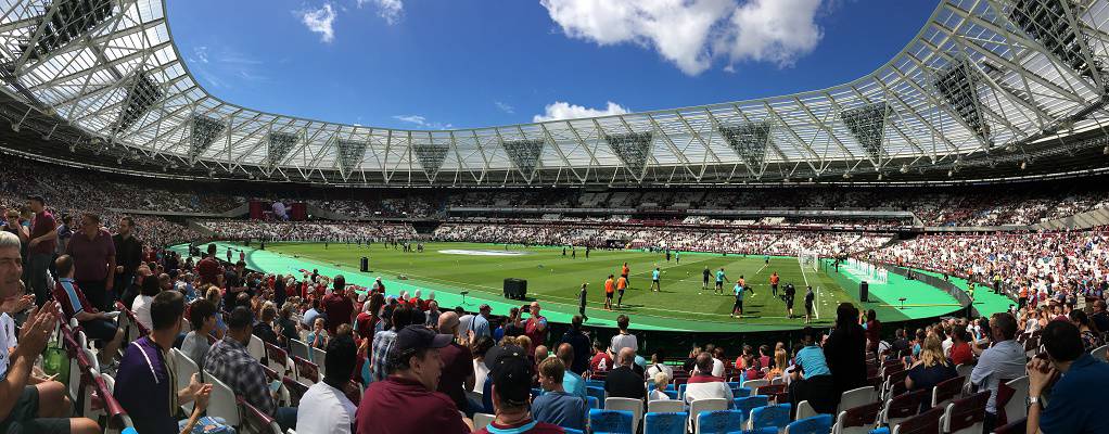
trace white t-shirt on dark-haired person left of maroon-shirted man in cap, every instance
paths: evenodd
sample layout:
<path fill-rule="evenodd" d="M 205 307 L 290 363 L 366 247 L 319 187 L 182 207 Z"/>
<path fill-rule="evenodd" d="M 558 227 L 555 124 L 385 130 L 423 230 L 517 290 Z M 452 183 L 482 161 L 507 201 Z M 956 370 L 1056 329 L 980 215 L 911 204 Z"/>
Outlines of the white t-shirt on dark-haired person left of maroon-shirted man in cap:
<path fill-rule="evenodd" d="M 296 410 L 297 434 L 350 434 L 357 411 L 343 391 L 319 382 L 308 387 Z"/>

